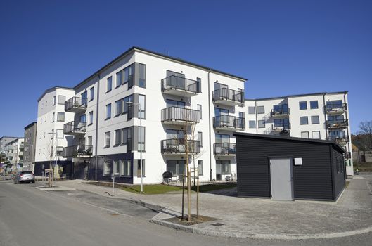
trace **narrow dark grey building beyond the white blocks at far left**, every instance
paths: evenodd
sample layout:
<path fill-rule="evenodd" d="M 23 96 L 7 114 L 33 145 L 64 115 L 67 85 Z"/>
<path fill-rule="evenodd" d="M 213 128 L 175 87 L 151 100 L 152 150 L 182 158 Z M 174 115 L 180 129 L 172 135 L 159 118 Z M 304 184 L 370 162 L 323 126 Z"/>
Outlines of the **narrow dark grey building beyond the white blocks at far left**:
<path fill-rule="evenodd" d="M 34 171 L 37 122 L 25 127 L 25 150 L 23 151 L 23 170 Z"/>

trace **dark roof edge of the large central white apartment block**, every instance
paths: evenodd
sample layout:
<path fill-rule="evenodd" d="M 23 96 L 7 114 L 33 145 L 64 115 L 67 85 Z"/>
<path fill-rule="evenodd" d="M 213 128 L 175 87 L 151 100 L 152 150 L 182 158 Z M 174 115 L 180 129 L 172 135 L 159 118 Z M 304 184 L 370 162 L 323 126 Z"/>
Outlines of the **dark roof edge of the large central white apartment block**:
<path fill-rule="evenodd" d="M 222 72 L 221 70 L 215 70 L 212 67 L 206 67 L 204 65 L 199 65 L 199 64 L 196 64 L 196 63 L 191 63 L 191 62 L 189 62 L 187 60 L 183 60 L 181 58 L 167 56 L 167 55 L 164 55 L 162 53 L 158 53 L 158 52 L 155 52 L 155 51 L 150 51 L 150 50 L 145 49 L 145 48 L 140 48 L 140 47 L 137 47 L 137 46 L 133 46 L 132 48 L 129 48 L 127 51 L 125 51 L 124 53 L 122 53 L 120 56 L 117 56 L 117 58 L 115 58 L 114 60 L 111 60 L 110 63 L 108 63 L 108 64 L 104 65 L 103 67 L 101 67 L 101 69 L 99 69 L 98 71 L 94 72 L 94 74 L 92 74 L 91 76 L 87 77 L 86 79 L 84 79 L 79 84 L 77 84 L 77 86 L 75 86 L 74 89 L 77 89 L 79 86 L 82 86 L 84 83 L 88 82 L 89 79 L 92 79 L 93 77 L 95 77 L 99 73 L 101 73 L 103 70 L 105 70 L 106 68 L 110 67 L 110 65 L 113 65 L 113 63 L 117 62 L 117 60 L 120 60 L 120 59 L 124 58 L 125 56 L 129 55 L 130 53 L 132 53 L 134 51 L 139 51 L 141 53 L 147 53 L 147 54 L 150 54 L 150 55 L 153 55 L 153 56 L 159 56 L 161 58 L 165 58 L 165 59 L 168 59 L 168 60 L 174 60 L 174 61 L 177 61 L 179 63 L 184 63 L 184 64 L 187 64 L 187 65 L 191 65 L 193 67 L 201 68 L 203 70 L 207 70 L 207 71 L 211 71 L 211 72 L 216 72 L 217 74 L 227 75 L 227 76 L 233 77 L 235 79 L 240 79 L 243 82 L 247 80 L 247 79 L 245 79 L 243 77 L 240 77 L 240 76 L 237 76 L 237 75 L 232 75 L 232 74 L 229 74 L 227 72 Z"/>

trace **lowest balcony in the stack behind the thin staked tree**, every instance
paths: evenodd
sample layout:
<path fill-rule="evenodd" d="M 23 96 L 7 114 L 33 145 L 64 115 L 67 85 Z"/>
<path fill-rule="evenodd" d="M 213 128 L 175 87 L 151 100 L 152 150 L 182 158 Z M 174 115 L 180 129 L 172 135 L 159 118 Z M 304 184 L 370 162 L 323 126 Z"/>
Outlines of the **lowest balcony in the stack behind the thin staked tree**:
<path fill-rule="evenodd" d="M 200 153 L 200 141 L 189 140 L 183 138 L 165 139 L 160 142 L 162 155 L 185 155 L 186 150 L 190 154 Z"/>

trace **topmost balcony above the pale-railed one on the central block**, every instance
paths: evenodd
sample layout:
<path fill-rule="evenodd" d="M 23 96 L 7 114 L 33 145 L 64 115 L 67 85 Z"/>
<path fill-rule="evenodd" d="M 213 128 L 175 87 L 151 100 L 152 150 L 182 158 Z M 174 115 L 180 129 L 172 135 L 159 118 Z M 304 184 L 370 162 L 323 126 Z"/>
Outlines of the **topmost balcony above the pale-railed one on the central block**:
<path fill-rule="evenodd" d="M 190 98 L 200 93 L 200 82 L 175 75 L 162 79 L 162 93 Z"/>

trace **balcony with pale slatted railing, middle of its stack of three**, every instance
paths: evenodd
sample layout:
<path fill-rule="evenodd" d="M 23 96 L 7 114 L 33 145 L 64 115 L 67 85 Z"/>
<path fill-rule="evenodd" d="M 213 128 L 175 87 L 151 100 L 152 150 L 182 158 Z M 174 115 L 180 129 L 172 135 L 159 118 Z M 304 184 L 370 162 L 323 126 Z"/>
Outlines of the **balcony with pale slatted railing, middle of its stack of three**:
<path fill-rule="evenodd" d="M 169 107 L 162 109 L 162 123 L 185 125 L 198 124 L 200 122 L 200 111 L 189 108 Z"/>

